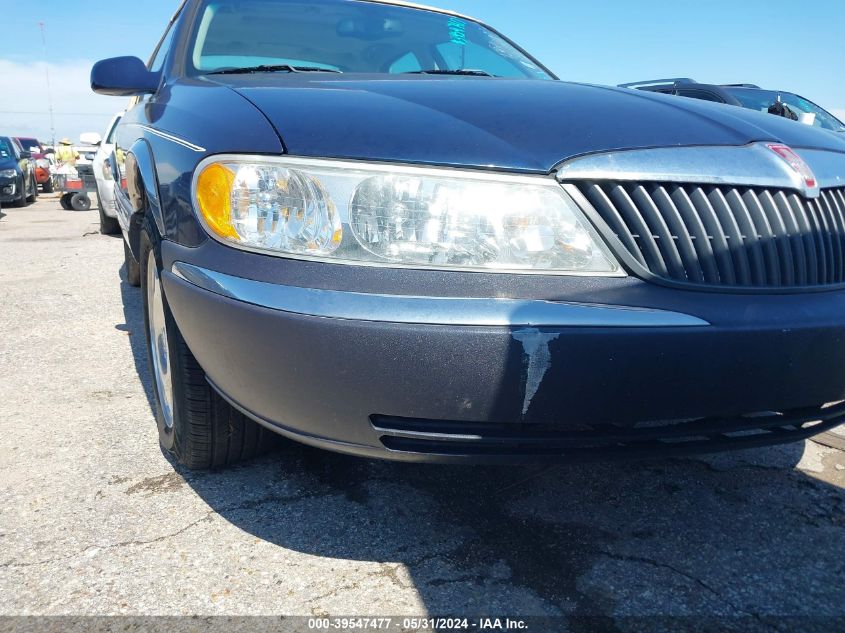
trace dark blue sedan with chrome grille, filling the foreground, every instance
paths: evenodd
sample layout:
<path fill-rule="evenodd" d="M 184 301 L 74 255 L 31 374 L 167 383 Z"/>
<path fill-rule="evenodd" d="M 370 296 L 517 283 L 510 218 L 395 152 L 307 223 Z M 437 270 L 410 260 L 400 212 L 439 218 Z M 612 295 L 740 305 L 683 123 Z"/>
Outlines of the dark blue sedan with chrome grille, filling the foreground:
<path fill-rule="evenodd" d="M 790 442 L 845 418 L 845 141 L 558 81 L 373 0 L 187 0 L 112 157 L 162 445 L 410 461 Z"/>

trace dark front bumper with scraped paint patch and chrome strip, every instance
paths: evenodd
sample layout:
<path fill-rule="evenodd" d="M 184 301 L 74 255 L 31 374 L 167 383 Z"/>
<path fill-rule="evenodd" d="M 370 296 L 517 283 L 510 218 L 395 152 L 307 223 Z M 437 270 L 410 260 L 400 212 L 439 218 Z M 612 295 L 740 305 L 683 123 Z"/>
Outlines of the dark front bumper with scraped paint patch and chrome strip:
<path fill-rule="evenodd" d="M 617 279 L 593 282 L 589 304 L 385 301 L 314 294 L 334 267 L 317 284 L 299 262 L 214 244 L 165 242 L 163 260 L 174 317 L 221 395 L 325 448 L 418 461 L 635 456 L 791 441 L 842 418 L 814 407 L 845 399 L 843 291 L 720 295 Z M 269 283 L 274 270 L 292 283 Z M 680 442 L 686 427 L 666 421 L 690 419 L 697 440 Z"/>

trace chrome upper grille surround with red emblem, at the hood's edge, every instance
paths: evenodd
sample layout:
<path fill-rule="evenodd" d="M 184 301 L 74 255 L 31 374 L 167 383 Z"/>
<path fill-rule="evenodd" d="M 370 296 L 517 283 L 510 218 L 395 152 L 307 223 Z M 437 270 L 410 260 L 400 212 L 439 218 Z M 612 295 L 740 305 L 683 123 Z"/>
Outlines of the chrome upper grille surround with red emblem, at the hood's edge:
<path fill-rule="evenodd" d="M 819 188 L 845 186 L 845 153 L 794 150 L 813 170 L 818 187 L 808 188 L 801 176 L 766 147 L 660 147 L 591 154 L 557 167 L 560 182 L 572 180 L 643 180 L 696 184 L 795 189 L 806 197 Z"/>

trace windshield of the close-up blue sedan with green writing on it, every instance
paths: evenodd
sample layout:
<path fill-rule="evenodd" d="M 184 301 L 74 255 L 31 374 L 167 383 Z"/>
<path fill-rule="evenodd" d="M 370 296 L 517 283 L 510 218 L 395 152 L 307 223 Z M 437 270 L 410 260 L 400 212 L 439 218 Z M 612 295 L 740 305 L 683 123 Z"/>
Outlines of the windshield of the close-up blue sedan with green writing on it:
<path fill-rule="evenodd" d="M 199 15 L 190 60 L 195 74 L 290 65 L 551 79 L 496 33 L 433 11 L 350 0 L 206 0 Z"/>

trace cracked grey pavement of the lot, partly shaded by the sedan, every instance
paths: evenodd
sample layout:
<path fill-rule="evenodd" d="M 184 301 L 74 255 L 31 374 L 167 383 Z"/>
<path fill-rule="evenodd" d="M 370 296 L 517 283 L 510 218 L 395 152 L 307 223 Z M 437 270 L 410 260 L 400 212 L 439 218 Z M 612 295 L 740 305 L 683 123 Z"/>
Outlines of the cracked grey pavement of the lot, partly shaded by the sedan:
<path fill-rule="evenodd" d="M 552 468 L 287 444 L 174 467 L 122 259 L 96 211 L 2 211 L 0 615 L 845 616 L 845 453 L 812 441 Z"/>

